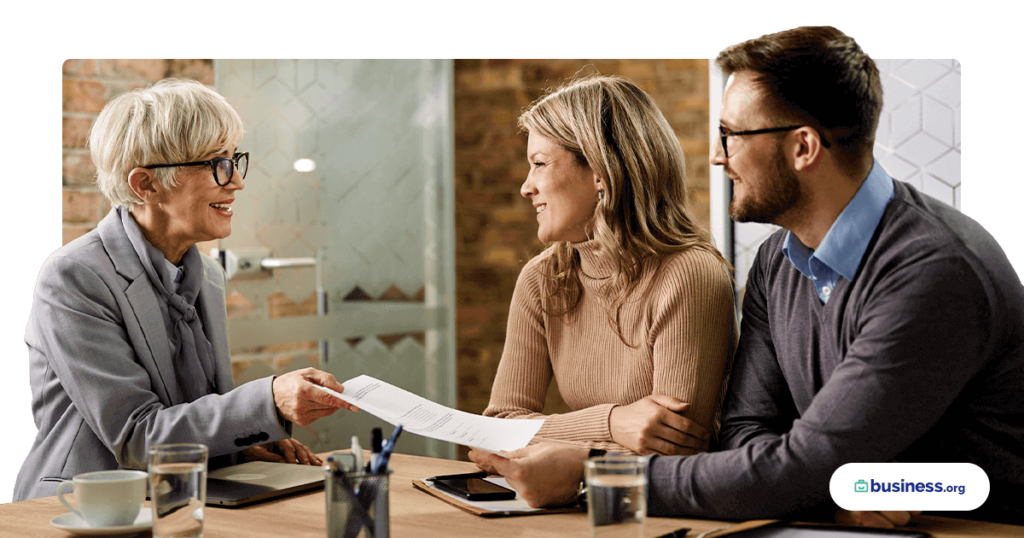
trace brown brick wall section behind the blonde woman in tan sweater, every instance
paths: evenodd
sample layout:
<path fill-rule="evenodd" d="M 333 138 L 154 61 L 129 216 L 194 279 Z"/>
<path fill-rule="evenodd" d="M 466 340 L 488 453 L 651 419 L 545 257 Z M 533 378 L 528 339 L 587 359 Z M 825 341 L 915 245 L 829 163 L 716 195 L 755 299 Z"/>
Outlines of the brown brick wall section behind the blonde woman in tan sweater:
<path fill-rule="evenodd" d="M 516 119 L 546 88 L 581 69 L 583 74 L 630 78 L 654 97 L 686 155 L 693 209 L 705 226 L 710 221 L 706 58 L 457 58 L 459 409 L 480 413 L 487 406 L 516 278 L 543 249 L 537 213 L 519 194 L 529 165 L 526 137 L 516 132 Z M 553 383 L 545 411 L 566 410 Z"/>

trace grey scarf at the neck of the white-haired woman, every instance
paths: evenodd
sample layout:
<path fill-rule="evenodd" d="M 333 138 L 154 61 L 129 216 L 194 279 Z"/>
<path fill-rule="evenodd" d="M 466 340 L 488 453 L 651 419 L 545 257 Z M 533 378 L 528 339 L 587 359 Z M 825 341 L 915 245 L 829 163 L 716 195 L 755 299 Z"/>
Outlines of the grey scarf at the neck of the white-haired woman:
<path fill-rule="evenodd" d="M 157 263 L 164 261 L 164 253 L 145 240 L 142 231 L 127 209 L 118 208 L 118 212 L 121 213 L 125 233 L 135 247 L 135 252 L 142 261 L 142 267 L 150 277 L 153 288 L 167 304 L 166 312 L 173 327 L 173 330 L 169 328 L 167 338 L 172 353 L 177 350 L 172 360 L 178 386 L 184 391 L 187 402 L 195 402 L 201 397 L 215 394 L 213 345 L 203 331 L 203 321 L 195 306 L 203 285 L 202 254 L 196 245 L 185 251 L 181 257 L 183 278 L 179 282 L 178 291 L 172 292 L 174 283 L 165 282 L 166 279 L 160 276 L 166 276 L 166 273 L 157 271 L 159 266 Z"/>

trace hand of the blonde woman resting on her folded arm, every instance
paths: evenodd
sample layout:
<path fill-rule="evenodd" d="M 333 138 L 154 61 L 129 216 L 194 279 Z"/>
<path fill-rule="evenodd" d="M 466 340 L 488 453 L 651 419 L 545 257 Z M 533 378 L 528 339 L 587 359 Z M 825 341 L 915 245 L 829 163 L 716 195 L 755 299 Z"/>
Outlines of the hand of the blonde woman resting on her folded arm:
<path fill-rule="evenodd" d="M 679 413 L 690 405 L 667 395 L 651 395 L 611 410 L 611 439 L 637 454 L 689 456 L 708 449 L 711 434 Z"/>

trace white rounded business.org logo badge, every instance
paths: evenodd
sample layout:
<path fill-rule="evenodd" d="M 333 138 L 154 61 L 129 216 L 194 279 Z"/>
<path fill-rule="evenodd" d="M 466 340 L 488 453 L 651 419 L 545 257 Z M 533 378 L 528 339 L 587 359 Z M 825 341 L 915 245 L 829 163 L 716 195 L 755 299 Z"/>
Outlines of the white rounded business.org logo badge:
<path fill-rule="evenodd" d="M 848 463 L 828 484 L 847 510 L 973 510 L 989 487 L 973 463 Z"/>

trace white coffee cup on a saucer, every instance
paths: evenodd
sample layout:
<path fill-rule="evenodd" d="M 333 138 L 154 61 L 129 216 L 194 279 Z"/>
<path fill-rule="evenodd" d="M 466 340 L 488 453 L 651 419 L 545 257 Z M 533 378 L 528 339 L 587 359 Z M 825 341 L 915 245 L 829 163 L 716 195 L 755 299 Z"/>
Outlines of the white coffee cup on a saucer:
<path fill-rule="evenodd" d="M 60 484 L 57 499 L 89 527 L 131 525 L 145 500 L 147 478 L 148 474 L 142 470 L 86 472 Z M 68 486 L 75 487 L 77 508 L 65 499 L 63 490 Z"/>

